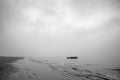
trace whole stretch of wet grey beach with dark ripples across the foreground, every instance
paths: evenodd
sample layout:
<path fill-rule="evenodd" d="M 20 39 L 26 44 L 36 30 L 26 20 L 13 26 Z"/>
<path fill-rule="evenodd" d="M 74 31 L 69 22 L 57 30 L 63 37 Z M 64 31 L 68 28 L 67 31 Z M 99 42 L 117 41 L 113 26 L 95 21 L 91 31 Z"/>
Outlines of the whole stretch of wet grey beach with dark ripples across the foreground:
<path fill-rule="evenodd" d="M 2 57 L 0 80 L 120 80 L 119 69 L 63 58 Z M 2 62 L 1 61 L 1 62 Z"/>

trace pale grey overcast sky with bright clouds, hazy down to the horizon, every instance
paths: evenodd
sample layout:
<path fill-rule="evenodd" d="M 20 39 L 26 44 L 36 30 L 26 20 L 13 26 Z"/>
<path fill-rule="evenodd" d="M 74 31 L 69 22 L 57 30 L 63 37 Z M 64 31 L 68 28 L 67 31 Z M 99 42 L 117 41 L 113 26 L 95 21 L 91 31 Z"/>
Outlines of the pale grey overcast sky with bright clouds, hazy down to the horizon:
<path fill-rule="evenodd" d="M 0 0 L 1 56 L 120 61 L 120 0 Z"/>

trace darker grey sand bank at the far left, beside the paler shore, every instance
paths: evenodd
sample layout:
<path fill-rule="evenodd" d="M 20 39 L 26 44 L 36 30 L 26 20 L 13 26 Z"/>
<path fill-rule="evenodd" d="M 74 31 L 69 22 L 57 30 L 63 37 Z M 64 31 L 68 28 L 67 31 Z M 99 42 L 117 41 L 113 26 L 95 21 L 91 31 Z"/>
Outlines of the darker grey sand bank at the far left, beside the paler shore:
<path fill-rule="evenodd" d="M 16 62 L 19 59 L 24 58 L 0 56 L 0 80 L 9 80 L 10 74 L 19 71 L 17 67 L 12 65 L 12 63 Z"/>

